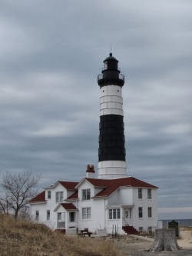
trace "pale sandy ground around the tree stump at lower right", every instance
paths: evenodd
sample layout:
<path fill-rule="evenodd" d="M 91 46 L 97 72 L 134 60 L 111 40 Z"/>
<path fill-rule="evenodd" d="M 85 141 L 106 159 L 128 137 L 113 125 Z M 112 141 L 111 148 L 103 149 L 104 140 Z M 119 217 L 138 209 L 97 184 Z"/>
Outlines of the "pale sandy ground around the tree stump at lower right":
<path fill-rule="evenodd" d="M 180 251 L 149 252 L 154 239 L 137 235 L 123 235 L 112 238 L 115 246 L 121 251 L 122 256 L 192 256 L 192 231 L 180 230 L 177 243 Z"/>

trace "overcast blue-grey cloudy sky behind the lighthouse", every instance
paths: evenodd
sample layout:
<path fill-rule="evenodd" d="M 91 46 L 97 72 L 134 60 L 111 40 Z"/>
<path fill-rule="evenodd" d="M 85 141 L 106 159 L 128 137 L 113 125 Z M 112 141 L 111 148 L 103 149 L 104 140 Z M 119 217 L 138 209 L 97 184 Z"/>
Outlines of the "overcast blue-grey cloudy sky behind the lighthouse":
<path fill-rule="evenodd" d="M 191 0 L 0 0 L 0 170 L 40 173 L 41 190 L 97 169 L 112 45 L 127 173 L 159 187 L 159 218 L 192 218 L 191 14 Z"/>

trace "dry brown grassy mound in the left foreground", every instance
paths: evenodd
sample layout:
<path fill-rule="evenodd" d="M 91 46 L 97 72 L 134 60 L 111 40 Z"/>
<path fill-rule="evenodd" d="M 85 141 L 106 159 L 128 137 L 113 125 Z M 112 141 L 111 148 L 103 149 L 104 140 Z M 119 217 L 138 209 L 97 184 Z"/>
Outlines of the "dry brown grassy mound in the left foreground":
<path fill-rule="evenodd" d="M 1 256 L 119 256 L 114 244 L 53 232 L 42 224 L 0 215 Z"/>

